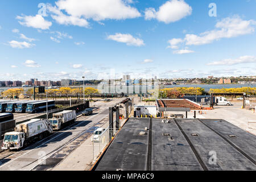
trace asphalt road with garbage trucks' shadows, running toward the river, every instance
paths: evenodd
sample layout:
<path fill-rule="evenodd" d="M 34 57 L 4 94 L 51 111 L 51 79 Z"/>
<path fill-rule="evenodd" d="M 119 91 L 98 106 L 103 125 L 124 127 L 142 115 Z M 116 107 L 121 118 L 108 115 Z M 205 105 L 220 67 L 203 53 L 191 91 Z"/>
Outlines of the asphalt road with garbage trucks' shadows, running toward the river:
<path fill-rule="evenodd" d="M 100 109 L 94 111 L 93 115 L 82 116 L 73 125 L 31 144 L 23 150 L 1 152 L 0 171 L 47 170 L 56 166 L 84 139 L 90 137 L 96 126 L 108 117 L 108 107 L 114 106 L 120 101 L 121 99 L 108 103 L 103 102 Z M 69 146 L 70 144 L 73 145 Z M 67 146 L 69 146 L 68 149 Z"/>

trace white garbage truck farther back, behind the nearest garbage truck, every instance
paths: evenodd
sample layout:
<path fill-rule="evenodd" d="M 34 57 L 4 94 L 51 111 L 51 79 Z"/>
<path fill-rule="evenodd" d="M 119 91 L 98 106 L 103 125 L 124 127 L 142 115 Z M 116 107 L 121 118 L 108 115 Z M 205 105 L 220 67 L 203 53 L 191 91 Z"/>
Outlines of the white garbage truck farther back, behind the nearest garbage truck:
<path fill-rule="evenodd" d="M 49 119 L 52 123 L 53 130 L 60 130 L 64 125 L 71 124 L 76 121 L 75 110 L 64 110 L 60 113 L 54 113 L 53 118 Z"/>

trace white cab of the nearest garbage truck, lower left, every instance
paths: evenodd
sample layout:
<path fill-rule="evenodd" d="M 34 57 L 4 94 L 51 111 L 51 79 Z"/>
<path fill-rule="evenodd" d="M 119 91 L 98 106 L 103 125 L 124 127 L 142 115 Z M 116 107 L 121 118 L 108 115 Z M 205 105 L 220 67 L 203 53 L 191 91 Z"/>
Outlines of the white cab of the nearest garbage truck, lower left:
<path fill-rule="evenodd" d="M 6 133 L 5 138 L 3 138 L 2 150 L 18 150 L 23 147 L 25 139 L 24 132 L 13 131 Z"/>

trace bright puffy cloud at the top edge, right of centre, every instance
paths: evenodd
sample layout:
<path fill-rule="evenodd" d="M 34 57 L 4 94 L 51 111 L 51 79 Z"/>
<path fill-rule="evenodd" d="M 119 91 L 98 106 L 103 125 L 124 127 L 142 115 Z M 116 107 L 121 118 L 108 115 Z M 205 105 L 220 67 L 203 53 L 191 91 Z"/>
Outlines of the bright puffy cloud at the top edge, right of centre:
<path fill-rule="evenodd" d="M 160 22 L 172 23 L 185 16 L 192 14 L 192 7 L 189 6 L 184 0 L 170 0 L 159 7 L 159 11 L 155 11 L 150 7 L 145 10 L 145 19 L 150 20 L 153 18 L 158 19 Z"/>

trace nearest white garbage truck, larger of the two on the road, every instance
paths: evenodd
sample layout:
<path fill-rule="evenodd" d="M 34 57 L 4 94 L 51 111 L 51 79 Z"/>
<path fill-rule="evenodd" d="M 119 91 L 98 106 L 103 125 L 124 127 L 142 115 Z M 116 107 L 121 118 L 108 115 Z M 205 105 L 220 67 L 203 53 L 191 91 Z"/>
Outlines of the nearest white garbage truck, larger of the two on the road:
<path fill-rule="evenodd" d="M 14 150 L 27 147 L 28 144 L 41 140 L 52 133 L 51 123 L 47 119 L 31 119 L 17 125 L 12 132 L 5 133 L 2 150 Z"/>

